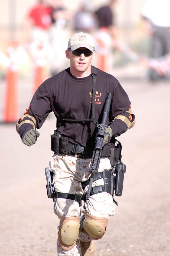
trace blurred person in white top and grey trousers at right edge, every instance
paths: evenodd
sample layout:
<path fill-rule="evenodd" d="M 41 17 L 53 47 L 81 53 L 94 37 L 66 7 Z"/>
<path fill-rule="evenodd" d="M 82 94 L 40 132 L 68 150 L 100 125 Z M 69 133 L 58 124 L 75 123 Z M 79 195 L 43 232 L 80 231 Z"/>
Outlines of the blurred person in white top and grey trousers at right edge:
<path fill-rule="evenodd" d="M 147 0 L 141 10 L 145 31 L 151 36 L 150 57 L 158 58 L 170 53 L 170 1 Z M 156 70 L 149 69 L 149 79 L 167 79 Z"/>

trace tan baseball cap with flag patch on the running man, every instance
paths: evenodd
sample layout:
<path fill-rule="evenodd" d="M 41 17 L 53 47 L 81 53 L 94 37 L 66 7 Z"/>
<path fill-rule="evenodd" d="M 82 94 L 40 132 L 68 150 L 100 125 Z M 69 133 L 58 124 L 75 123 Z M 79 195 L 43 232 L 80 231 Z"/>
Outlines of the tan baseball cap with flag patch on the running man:
<path fill-rule="evenodd" d="M 89 49 L 91 52 L 94 51 L 94 41 L 93 38 L 84 32 L 79 32 L 73 34 L 68 41 L 68 48 L 67 50 L 76 50 L 80 47 L 85 47 Z"/>

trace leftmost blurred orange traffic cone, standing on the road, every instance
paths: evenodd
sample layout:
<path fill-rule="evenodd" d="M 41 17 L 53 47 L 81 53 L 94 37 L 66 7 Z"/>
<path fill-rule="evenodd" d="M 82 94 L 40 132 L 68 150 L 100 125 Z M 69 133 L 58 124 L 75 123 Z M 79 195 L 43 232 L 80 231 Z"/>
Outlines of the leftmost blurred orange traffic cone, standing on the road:
<path fill-rule="evenodd" d="M 18 73 L 9 68 L 6 73 L 6 87 L 4 97 L 4 122 L 13 123 L 19 119 L 18 105 Z"/>

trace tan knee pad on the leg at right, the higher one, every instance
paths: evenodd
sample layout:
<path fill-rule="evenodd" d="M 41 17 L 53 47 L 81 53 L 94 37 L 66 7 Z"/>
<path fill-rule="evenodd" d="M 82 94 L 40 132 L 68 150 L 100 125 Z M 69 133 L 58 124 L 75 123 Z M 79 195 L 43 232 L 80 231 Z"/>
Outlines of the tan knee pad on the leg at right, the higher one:
<path fill-rule="evenodd" d="M 86 213 L 85 220 L 83 221 L 83 228 L 93 239 L 100 239 L 106 232 L 108 219 L 104 217 L 95 217 Z"/>

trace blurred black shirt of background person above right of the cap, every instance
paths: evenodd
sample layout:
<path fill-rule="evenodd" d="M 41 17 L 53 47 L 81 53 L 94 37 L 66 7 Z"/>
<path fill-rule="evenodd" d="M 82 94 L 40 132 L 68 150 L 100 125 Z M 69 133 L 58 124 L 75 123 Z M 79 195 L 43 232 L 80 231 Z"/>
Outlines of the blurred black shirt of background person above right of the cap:
<path fill-rule="evenodd" d="M 103 6 L 95 12 L 98 18 L 99 27 L 109 27 L 113 25 L 113 13 L 109 6 Z"/>

